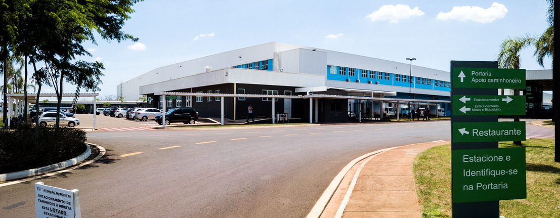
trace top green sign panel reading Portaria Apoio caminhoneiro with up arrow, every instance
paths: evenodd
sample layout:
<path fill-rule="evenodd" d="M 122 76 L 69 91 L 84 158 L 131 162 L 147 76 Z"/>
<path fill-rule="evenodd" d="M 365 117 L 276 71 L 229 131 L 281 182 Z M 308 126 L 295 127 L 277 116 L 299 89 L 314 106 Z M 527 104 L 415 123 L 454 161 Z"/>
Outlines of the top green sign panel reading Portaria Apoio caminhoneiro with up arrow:
<path fill-rule="evenodd" d="M 451 79 L 454 88 L 525 89 L 525 69 L 456 67 Z"/>

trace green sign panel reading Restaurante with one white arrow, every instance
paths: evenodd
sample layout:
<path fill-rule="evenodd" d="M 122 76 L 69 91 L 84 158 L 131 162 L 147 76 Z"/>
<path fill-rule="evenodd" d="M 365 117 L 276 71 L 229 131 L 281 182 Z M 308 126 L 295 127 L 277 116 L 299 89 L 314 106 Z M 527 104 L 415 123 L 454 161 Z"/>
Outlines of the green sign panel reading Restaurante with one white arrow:
<path fill-rule="evenodd" d="M 453 123 L 452 142 L 525 141 L 525 122 Z"/>

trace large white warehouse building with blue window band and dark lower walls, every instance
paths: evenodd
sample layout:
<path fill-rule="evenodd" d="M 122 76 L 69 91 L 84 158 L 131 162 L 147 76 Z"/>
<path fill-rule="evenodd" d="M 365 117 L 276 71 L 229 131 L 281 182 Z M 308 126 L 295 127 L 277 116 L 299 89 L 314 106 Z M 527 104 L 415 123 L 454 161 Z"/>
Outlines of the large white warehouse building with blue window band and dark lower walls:
<path fill-rule="evenodd" d="M 368 114 L 374 115 L 375 105 L 396 106 L 395 99 L 416 99 L 415 104 L 449 108 L 449 79 L 449 72 L 409 63 L 273 42 L 153 69 L 118 85 L 117 95 L 126 100 L 147 95 L 148 106 L 163 108 L 165 102 L 167 109 L 192 107 L 201 117 L 220 117 L 223 104 L 225 117 L 246 118 L 247 107 L 253 104 L 256 117 L 270 117 L 274 105 L 273 111 L 306 119 L 311 117 L 312 107 L 317 122 L 340 122 L 355 113 L 371 118 Z M 216 96 L 178 95 L 163 100 L 156 95 L 161 92 Z M 277 98 L 272 103 L 273 98 L 246 96 L 225 98 L 222 103 L 217 97 L 220 94 Z M 304 100 L 306 96 L 315 98 L 315 106 Z M 386 103 L 379 103 L 379 98 Z"/>

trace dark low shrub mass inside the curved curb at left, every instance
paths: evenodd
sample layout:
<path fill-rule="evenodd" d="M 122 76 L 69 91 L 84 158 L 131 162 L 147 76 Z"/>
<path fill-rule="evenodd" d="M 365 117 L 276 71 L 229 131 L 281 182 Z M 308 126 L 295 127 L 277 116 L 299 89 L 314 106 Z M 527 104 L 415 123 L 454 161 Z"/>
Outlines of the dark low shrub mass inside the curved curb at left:
<path fill-rule="evenodd" d="M 36 144 L 35 127 L 24 125 L 0 129 L 0 173 L 10 173 L 59 163 L 86 151 L 86 132 L 81 129 L 39 127 Z"/>

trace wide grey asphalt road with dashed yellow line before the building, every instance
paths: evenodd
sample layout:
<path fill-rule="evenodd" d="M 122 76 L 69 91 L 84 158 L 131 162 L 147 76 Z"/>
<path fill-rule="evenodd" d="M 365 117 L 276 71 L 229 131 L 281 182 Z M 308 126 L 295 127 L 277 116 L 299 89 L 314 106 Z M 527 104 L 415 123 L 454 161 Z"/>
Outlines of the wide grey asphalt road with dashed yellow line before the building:
<path fill-rule="evenodd" d="M 0 216 L 34 217 L 34 183 L 44 182 L 79 189 L 83 217 L 305 217 L 349 161 L 449 132 L 449 120 L 90 132 L 104 158 L 0 187 Z"/>

